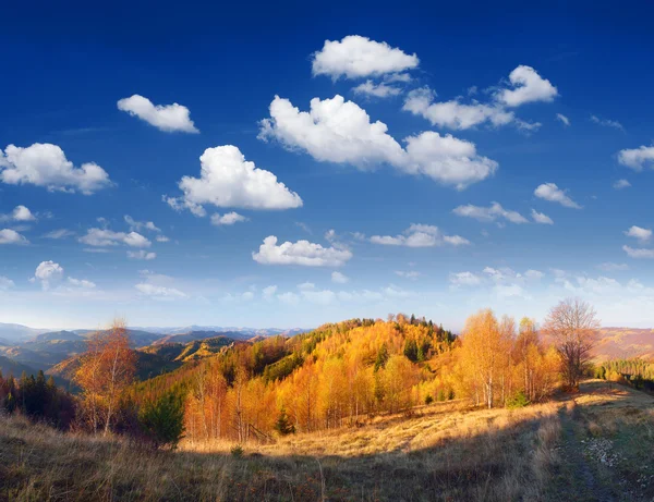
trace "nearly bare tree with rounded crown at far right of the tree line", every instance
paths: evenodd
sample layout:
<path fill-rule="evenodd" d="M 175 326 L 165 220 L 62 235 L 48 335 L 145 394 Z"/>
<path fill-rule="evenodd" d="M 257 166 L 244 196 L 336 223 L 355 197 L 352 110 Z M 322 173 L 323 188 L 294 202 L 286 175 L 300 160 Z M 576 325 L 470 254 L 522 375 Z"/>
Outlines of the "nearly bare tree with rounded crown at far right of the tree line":
<path fill-rule="evenodd" d="M 595 345 L 600 320 L 595 309 L 580 298 L 567 298 L 553 307 L 543 331 L 554 339 L 561 357 L 561 372 L 570 389 L 579 387 Z"/>

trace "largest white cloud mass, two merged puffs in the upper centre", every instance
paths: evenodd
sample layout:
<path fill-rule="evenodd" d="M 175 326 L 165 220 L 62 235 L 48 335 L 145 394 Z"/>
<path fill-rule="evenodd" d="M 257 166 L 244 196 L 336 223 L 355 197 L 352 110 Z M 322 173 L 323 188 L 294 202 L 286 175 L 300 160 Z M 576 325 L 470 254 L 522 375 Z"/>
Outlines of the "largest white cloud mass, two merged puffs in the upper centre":
<path fill-rule="evenodd" d="M 473 143 L 451 135 L 427 131 L 409 136 L 404 149 L 388 134 L 384 122 L 371 122 L 365 110 L 338 95 L 312 99 L 308 112 L 275 97 L 270 118 L 261 122 L 258 137 L 278 140 L 289 150 L 305 151 L 320 162 L 349 163 L 361 170 L 390 164 L 458 188 L 497 170 L 497 162 L 477 155 Z"/>

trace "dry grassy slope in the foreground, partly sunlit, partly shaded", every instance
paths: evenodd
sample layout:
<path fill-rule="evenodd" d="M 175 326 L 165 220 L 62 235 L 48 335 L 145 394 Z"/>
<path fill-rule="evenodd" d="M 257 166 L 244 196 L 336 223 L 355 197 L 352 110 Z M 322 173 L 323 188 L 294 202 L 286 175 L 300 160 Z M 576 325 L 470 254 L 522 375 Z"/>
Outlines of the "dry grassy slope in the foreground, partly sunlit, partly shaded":
<path fill-rule="evenodd" d="M 590 382 L 523 409 L 438 403 L 241 458 L 229 444 L 152 453 L 0 418 L 0 500 L 652 500 L 653 404 Z"/>

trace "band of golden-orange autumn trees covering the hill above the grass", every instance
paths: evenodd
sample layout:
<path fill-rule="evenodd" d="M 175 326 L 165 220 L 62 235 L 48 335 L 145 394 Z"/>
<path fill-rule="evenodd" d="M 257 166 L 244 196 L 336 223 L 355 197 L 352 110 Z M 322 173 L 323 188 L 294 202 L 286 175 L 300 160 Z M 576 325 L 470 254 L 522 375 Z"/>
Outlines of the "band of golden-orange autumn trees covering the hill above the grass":
<path fill-rule="evenodd" d="M 579 299 L 553 307 L 541 329 L 529 318 L 516 323 L 480 310 L 460 336 L 402 314 L 351 319 L 288 339 L 238 342 L 136 382 L 135 353 L 118 321 L 97 333 L 81 357 L 74 376 L 80 394 L 57 400 L 73 403 L 71 427 L 128 433 L 157 446 L 174 446 L 182 434 L 196 442 L 269 441 L 275 434 L 358 426 L 435 401 L 510 407 L 546 400 L 559 383 L 579 384 L 597 328 L 594 310 Z M 52 395 L 60 392 L 39 383 L 40 376 L 34 385 L 29 379 L 14 382 L 0 395 L 14 403 L 21 389 L 25 395 L 44 385 Z M 52 402 L 38 392 L 44 403 Z M 39 416 L 33 409 L 22 408 Z"/>

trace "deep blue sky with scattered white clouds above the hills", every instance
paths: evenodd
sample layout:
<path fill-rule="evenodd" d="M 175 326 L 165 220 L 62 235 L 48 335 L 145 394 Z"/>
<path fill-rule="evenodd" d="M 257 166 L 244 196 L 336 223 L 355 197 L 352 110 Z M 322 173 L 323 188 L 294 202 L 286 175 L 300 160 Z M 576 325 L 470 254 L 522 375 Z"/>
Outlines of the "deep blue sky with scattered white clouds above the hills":
<path fill-rule="evenodd" d="M 4 13 L 0 322 L 654 322 L 646 2 Z"/>

